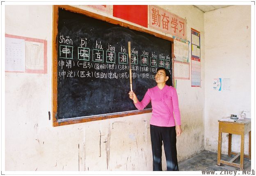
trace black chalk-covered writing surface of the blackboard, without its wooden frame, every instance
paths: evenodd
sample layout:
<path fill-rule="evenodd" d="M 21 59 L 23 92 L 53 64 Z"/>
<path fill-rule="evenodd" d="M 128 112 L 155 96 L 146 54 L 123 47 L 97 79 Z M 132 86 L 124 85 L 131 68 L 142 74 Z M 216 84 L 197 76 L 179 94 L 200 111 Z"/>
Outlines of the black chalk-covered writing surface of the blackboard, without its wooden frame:
<path fill-rule="evenodd" d="M 139 111 L 128 97 L 128 41 L 139 100 L 156 85 L 159 66 L 172 73 L 171 41 L 63 8 L 57 11 L 58 122 Z M 151 104 L 145 109 L 151 110 Z"/>

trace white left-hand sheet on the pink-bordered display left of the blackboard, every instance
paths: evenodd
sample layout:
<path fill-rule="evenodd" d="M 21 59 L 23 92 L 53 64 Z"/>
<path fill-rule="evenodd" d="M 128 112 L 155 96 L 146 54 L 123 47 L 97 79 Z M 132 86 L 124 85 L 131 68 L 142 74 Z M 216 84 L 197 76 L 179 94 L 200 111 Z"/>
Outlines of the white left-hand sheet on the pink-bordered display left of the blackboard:
<path fill-rule="evenodd" d="M 5 37 L 5 71 L 25 71 L 25 40 Z"/>

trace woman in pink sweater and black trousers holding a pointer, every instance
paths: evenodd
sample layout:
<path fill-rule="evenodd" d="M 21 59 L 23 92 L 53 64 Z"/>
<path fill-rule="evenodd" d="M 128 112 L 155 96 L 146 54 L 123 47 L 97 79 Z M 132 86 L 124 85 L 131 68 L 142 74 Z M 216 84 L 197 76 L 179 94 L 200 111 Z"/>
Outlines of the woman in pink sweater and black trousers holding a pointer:
<path fill-rule="evenodd" d="M 160 67 L 155 74 L 157 85 L 148 89 L 142 101 L 138 100 L 133 91 L 129 92 L 129 97 L 138 110 L 143 110 L 151 101 L 150 136 L 153 171 L 162 171 L 162 142 L 165 149 L 167 171 L 178 171 L 176 136 L 180 136 L 182 133 L 181 114 L 176 89 L 169 86 L 168 79 L 169 71 Z"/>

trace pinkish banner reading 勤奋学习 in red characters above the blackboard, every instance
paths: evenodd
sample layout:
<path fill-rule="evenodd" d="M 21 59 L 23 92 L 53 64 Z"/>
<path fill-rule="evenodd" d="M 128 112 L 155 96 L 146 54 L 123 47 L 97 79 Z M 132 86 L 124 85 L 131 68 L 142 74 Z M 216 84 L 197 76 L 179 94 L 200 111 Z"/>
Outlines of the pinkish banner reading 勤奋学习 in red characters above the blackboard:
<path fill-rule="evenodd" d="M 149 27 L 181 39 L 187 38 L 187 21 L 155 5 L 149 5 Z"/>

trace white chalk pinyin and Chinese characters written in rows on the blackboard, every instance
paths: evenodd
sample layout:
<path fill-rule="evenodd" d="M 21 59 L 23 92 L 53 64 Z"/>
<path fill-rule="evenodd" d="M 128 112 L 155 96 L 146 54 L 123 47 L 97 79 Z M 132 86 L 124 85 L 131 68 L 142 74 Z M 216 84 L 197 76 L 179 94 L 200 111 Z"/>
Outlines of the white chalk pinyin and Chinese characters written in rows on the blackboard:
<path fill-rule="evenodd" d="M 87 37 L 80 38 L 78 47 L 75 47 L 69 36 L 59 35 L 59 71 L 60 78 L 102 78 L 102 79 L 128 79 L 128 49 L 127 46 L 114 46 L 102 41 L 93 42 L 89 47 Z M 77 57 L 74 56 L 75 50 Z M 77 59 L 76 59 L 77 58 Z M 145 78 L 155 80 L 157 67 L 170 70 L 171 58 L 163 53 L 131 48 L 132 78 Z M 76 69 L 73 69 L 73 68 Z"/>

